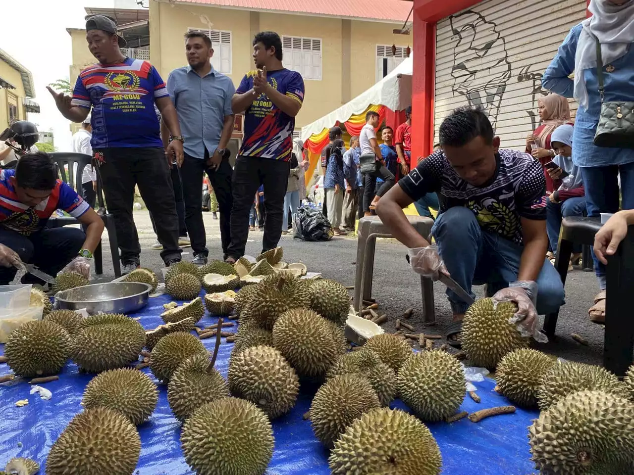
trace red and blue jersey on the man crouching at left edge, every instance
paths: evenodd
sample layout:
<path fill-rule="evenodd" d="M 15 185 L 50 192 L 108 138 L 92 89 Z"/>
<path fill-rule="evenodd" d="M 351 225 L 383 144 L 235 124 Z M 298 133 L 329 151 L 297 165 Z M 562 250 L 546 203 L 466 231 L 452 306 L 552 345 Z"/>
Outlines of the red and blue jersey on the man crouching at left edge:
<path fill-rule="evenodd" d="M 15 188 L 9 181 L 13 175 L 15 170 L 0 170 L 0 225 L 6 229 L 29 236 L 40 231 L 58 208 L 74 218 L 79 218 L 90 208 L 74 189 L 61 180 L 55 183 L 46 200 L 35 208 L 29 208 L 18 201 Z"/>

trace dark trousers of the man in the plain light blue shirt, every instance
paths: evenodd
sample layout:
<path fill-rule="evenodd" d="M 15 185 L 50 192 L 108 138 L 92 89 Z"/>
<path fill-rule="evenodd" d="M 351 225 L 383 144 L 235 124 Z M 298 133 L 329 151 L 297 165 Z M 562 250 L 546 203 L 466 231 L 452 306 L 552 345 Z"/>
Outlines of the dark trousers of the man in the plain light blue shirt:
<path fill-rule="evenodd" d="M 196 158 L 185 154 L 185 160 L 181 166 L 183 178 L 183 198 L 185 200 L 185 223 L 190 233 L 191 250 L 195 255 L 209 255 L 207 250 L 207 237 L 205 236 L 205 224 L 202 220 L 202 179 L 207 173 L 211 186 L 218 200 L 220 212 L 220 239 L 223 246 L 224 257 L 227 256 L 231 244 L 231 207 L 233 206 L 233 194 L 231 190 L 231 165 L 229 159 L 224 158 L 217 170 L 207 165 L 209 153 L 205 150 L 204 158 Z M 251 196 L 253 201 L 254 191 Z M 248 210 L 247 210 L 248 212 Z M 249 217 L 247 215 L 247 225 Z"/>

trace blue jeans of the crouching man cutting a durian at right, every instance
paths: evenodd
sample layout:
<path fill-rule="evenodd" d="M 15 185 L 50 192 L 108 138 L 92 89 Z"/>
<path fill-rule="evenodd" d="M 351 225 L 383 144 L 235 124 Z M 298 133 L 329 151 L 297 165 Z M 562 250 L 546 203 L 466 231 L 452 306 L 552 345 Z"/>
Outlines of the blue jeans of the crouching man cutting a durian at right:
<path fill-rule="evenodd" d="M 487 296 L 517 280 L 524 248 L 493 232 L 483 231 L 469 208 L 455 206 L 439 215 L 432 227 L 439 253 L 451 277 L 475 298 L 472 285 L 488 284 Z M 544 258 L 537 277 L 537 313 L 550 314 L 564 305 L 564 286 L 555 267 Z M 469 307 L 447 289 L 454 314 Z"/>

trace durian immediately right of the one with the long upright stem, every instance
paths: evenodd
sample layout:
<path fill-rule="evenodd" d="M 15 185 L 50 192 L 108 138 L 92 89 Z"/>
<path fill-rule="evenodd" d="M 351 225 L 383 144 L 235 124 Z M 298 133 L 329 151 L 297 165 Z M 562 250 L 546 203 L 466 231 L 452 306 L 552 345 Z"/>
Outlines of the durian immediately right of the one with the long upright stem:
<path fill-rule="evenodd" d="M 257 405 L 271 420 L 297 402 L 299 378 L 278 350 L 251 346 L 235 353 L 228 372 L 231 395 Z"/>

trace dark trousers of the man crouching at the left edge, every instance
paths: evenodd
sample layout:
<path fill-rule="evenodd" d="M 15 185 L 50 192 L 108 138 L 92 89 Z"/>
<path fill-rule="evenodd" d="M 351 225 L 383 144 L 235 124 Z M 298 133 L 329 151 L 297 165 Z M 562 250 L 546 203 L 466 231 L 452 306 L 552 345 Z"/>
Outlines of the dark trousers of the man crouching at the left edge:
<path fill-rule="evenodd" d="M 92 186 L 92 183 L 91 183 Z M 42 272 L 55 277 L 81 249 L 86 234 L 74 227 L 44 228 L 30 236 L 0 227 L 0 243 L 13 249 L 22 262 L 39 267 Z M 15 279 L 15 267 L 0 266 L 0 285 L 7 285 Z M 31 274 L 22 277 L 24 284 L 44 284 Z"/>

